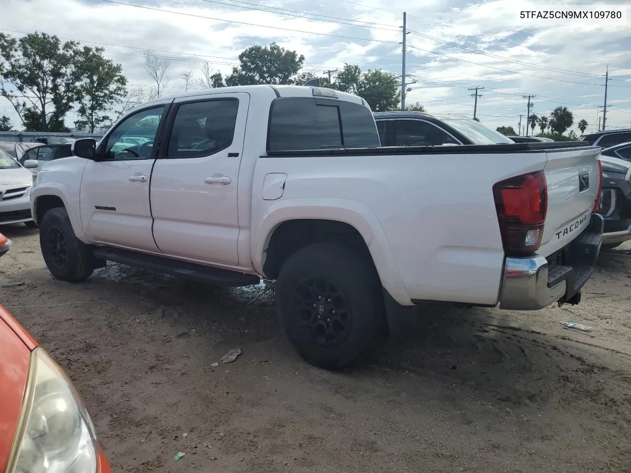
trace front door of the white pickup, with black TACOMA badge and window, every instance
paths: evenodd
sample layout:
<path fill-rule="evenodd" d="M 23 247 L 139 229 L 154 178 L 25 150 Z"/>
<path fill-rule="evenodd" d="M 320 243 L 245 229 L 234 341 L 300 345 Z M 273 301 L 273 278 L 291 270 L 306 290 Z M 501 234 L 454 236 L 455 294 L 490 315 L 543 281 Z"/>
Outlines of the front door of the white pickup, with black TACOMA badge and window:
<path fill-rule="evenodd" d="M 151 234 L 149 182 L 167 103 L 122 120 L 99 144 L 100 161 L 88 161 L 81 178 L 81 224 L 100 243 L 159 252 Z M 137 138 L 130 144 L 129 138 Z"/>

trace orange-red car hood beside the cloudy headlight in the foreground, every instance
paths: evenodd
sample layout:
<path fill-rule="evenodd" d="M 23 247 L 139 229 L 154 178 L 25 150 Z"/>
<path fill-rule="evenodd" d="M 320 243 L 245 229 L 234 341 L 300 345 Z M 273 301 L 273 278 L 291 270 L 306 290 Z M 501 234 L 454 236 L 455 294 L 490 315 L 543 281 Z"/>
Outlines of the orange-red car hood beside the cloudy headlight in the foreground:
<path fill-rule="evenodd" d="M 37 342 L 1 305 L 0 347 L 0 471 L 4 471 L 20 419 L 30 355 Z"/>

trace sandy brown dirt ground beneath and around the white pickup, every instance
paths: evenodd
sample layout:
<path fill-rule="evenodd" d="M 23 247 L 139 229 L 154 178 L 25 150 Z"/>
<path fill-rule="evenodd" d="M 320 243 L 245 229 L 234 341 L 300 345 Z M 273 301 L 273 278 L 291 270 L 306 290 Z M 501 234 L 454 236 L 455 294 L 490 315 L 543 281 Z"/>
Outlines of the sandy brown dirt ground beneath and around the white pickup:
<path fill-rule="evenodd" d="M 631 471 L 631 244 L 580 305 L 420 307 L 373 364 L 331 373 L 285 341 L 269 286 L 118 265 L 61 283 L 37 230 L 0 231 L 0 283 L 25 283 L 1 302 L 69 373 L 115 471 Z"/>

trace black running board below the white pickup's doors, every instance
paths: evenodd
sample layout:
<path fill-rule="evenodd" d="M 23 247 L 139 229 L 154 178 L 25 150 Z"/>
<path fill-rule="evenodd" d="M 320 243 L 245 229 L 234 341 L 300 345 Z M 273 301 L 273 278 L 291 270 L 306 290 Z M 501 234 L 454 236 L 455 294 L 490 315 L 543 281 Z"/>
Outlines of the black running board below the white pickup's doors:
<path fill-rule="evenodd" d="M 254 274 L 228 271 L 227 269 L 219 269 L 162 256 L 146 255 L 119 248 L 99 247 L 94 251 L 94 256 L 97 259 L 121 263 L 146 271 L 186 277 L 186 279 L 192 279 L 201 283 L 228 287 L 253 286 L 261 283 L 261 278 Z"/>

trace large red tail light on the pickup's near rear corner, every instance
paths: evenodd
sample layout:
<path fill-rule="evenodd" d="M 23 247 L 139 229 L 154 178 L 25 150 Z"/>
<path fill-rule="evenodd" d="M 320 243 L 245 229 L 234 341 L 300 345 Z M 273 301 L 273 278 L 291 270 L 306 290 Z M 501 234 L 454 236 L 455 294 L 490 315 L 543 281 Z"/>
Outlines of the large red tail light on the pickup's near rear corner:
<path fill-rule="evenodd" d="M 533 254 L 541 245 L 548 210 L 543 171 L 523 174 L 493 185 L 493 197 L 507 256 Z"/>

